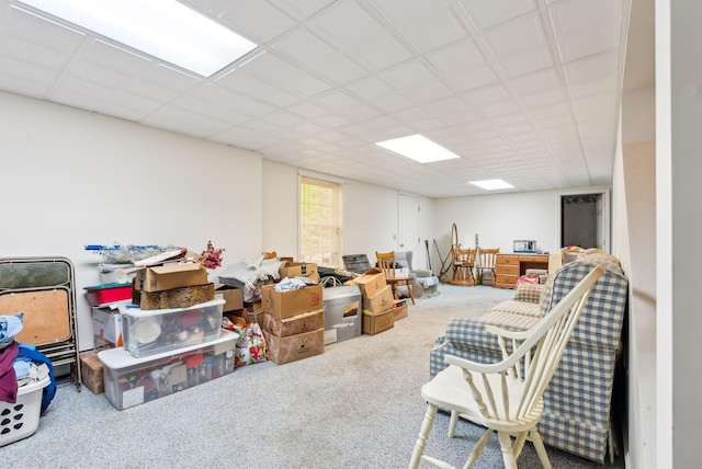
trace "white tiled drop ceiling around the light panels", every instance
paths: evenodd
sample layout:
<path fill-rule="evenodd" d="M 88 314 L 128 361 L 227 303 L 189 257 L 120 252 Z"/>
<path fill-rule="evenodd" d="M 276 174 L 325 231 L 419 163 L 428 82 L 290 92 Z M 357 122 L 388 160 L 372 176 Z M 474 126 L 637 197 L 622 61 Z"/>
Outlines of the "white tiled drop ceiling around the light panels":
<path fill-rule="evenodd" d="M 0 0 L 0 90 L 429 197 L 609 185 L 629 2 L 183 2 L 260 45 L 205 79 Z M 373 146 L 411 134 L 461 158 Z"/>

